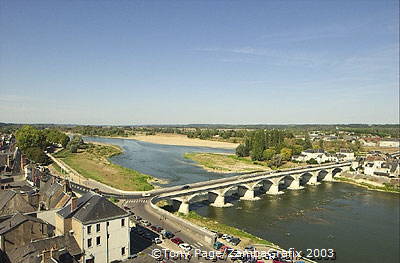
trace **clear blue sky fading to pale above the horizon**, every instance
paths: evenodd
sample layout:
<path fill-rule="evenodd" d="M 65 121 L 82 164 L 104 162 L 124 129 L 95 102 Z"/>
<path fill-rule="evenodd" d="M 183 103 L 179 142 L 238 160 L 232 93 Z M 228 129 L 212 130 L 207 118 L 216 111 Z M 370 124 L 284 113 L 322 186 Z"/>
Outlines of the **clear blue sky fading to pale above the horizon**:
<path fill-rule="evenodd" d="M 0 122 L 399 123 L 399 2 L 0 0 Z"/>

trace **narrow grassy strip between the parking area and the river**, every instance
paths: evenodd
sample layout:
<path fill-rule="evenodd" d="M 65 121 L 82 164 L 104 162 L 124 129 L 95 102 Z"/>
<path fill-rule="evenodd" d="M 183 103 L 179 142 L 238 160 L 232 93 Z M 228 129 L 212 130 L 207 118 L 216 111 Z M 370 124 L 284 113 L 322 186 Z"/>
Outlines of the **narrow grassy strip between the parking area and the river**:
<path fill-rule="evenodd" d="M 254 245 L 254 244 L 276 247 L 276 245 L 274 245 L 273 243 L 271 243 L 269 241 L 266 241 L 264 239 L 256 237 L 250 233 L 247 233 L 247 232 L 237 229 L 235 227 L 221 224 L 221 223 L 219 223 L 217 221 L 213 221 L 207 217 L 202 217 L 194 211 L 190 211 L 188 215 L 178 213 L 178 216 L 180 216 L 196 225 L 199 225 L 201 227 L 206 227 L 209 230 L 213 230 L 213 231 L 220 232 L 223 234 L 229 234 L 229 235 L 232 235 L 235 237 L 239 237 L 242 240 L 240 243 L 240 247 L 245 247 L 245 246 Z"/>

